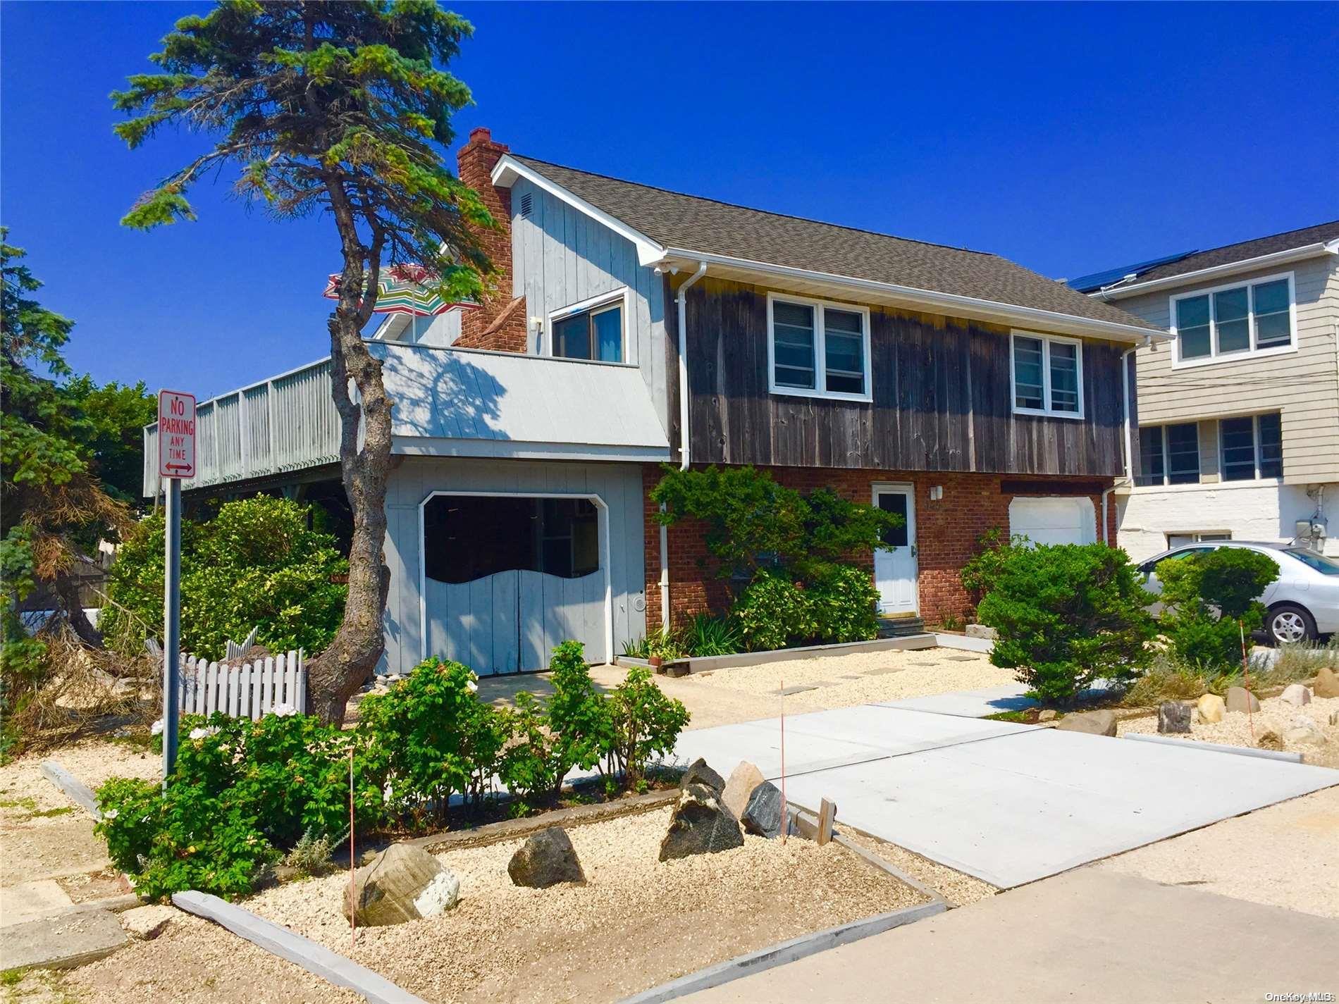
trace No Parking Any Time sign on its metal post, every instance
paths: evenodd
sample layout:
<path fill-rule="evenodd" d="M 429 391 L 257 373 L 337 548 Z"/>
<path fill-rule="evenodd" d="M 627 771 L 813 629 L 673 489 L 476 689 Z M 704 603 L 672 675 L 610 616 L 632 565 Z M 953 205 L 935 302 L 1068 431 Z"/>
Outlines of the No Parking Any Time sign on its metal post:
<path fill-rule="evenodd" d="M 158 477 L 167 482 L 163 541 L 163 784 L 177 764 L 181 693 L 181 482 L 195 477 L 195 396 L 158 391 Z"/>

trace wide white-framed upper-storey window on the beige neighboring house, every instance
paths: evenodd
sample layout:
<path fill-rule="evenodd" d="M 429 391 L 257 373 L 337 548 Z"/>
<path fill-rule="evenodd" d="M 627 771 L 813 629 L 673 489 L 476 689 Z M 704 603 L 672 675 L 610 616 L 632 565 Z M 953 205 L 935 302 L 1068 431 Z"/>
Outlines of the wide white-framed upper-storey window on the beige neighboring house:
<path fill-rule="evenodd" d="M 1170 299 L 1173 367 L 1295 352 L 1292 273 L 1197 289 Z"/>

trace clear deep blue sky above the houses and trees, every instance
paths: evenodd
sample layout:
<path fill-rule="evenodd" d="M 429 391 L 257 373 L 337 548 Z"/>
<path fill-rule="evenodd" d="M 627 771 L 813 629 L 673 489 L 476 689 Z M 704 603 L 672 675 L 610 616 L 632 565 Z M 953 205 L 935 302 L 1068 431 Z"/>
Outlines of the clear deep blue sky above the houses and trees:
<path fill-rule="evenodd" d="M 202 4 L 0 4 L 0 218 L 99 380 L 201 396 L 327 351 L 328 220 L 195 191 L 118 220 L 201 137 L 135 153 L 107 94 Z M 1048 276 L 1339 217 L 1334 4 L 458 4 L 453 67 L 513 150 L 991 250 Z M 454 151 L 453 151 L 454 154 Z"/>

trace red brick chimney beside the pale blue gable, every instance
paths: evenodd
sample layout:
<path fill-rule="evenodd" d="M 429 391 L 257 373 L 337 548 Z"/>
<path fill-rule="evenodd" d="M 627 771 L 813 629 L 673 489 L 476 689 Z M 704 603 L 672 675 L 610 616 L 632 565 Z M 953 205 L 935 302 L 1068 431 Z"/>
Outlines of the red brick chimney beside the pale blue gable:
<path fill-rule="evenodd" d="M 494 143 L 483 129 L 470 130 L 470 142 L 455 155 L 461 181 L 479 193 L 483 205 L 502 229 L 478 234 L 479 244 L 495 269 L 490 277 L 497 290 L 485 297 L 477 311 L 466 311 L 461 321 L 461 348 L 489 348 L 501 352 L 525 352 L 528 345 L 525 297 L 511 296 L 511 190 L 493 186 L 493 167 L 505 143 Z"/>

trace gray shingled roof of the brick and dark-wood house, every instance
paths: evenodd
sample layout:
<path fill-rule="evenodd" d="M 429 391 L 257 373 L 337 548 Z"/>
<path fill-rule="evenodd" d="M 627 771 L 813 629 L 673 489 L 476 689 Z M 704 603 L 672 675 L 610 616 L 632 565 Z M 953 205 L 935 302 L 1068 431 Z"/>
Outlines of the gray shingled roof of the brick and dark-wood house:
<path fill-rule="evenodd" d="M 667 248 L 969 296 L 1087 320 L 1153 328 L 1063 282 L 984 252 L 766 213 L 578 171 L 532 157 L 521 163 Z"/>

